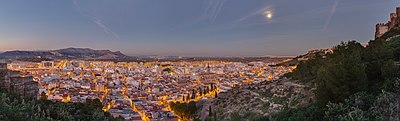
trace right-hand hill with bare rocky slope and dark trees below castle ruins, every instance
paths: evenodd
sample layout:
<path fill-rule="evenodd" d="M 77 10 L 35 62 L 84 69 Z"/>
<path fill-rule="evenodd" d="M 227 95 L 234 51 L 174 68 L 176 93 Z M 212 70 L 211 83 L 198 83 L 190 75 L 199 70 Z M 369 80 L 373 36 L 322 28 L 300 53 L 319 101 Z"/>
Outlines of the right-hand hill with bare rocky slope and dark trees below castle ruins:
<path fill-rule="evenodd" d="M 280 66 L 292 64 L 297 68 L 285 75 L 288 80 L 237 87 L 204 102 L 209 108 L 202 110 L 211 109 L 212 114 L 198 111 L 199 119 L 391 121 L 400 118 L 399 29 L 369 41 L 367 46 L 356 41 L 342 42 L 329 51 L 310 51 Z"/>

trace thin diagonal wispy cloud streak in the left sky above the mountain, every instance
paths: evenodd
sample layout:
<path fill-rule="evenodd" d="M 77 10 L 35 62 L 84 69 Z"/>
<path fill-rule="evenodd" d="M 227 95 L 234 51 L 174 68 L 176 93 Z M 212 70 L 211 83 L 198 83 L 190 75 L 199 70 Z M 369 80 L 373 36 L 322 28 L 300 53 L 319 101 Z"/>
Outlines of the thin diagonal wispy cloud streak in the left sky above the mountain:
<path fill-rule="evenodd" d="M 72 0 L 72 3 L 74 4 L 74 7 L 77 9 L 77 11 L 78 11 L 81 15 L 83 15 L 83 16 L 87 17 L 88 19 L 90 19 L 90 21 L 92 21 L 92 22 L 95 23 L 99 28 L 101 28 L 101 29 L 104 31 L 104 33 L 106 33 L 106 34 L 111 34 L 111 35 L 114 36 L 116 39 L 119 39 L 118 34 L 116 34 L 116 33 L 115 33 L 114 31 L 112 31 L 106 24 L 104 24 L 104 23 L 102 22 L 101 19 L 99 19 L 98 17 L 96 17 L 96 16 L 94 16 L 94 15 L 89 14 L 88 12 L 85 12 L 85 11 L 78 5 L 78 3 L 77 3 L 76 0 Z"/>

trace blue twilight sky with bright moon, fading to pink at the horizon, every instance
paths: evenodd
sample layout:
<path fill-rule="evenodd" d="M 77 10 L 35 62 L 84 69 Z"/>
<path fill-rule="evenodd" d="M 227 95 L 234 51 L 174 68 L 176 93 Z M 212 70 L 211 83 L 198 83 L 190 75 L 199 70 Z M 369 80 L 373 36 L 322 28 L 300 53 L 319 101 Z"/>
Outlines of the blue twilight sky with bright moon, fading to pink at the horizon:
<path fill-rule="evenodd" d="M 0 51 L 298 55 L 373 39 L 400 0 L 2 0 Z"/>

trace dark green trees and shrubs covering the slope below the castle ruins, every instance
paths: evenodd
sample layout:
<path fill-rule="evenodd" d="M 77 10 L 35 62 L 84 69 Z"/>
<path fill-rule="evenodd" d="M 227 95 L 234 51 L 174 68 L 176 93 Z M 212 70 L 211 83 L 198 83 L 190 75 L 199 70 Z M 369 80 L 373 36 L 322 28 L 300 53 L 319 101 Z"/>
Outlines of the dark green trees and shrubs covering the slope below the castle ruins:
<path fill-rule="evenodd" d="M 391 31 L 391 36 L 400 31 Z M 386 35 L 388 35 L 386 34 Z M 386 37 L 390 38 L 390 37 Z M 400 38 L 371 40 L 366 47 L 342 42 L 333 53 L 301 62 L 288 74 L 316 88 L 307 107 L 284 109 L 266 119 L 278 121 L 398 120 Z"/>

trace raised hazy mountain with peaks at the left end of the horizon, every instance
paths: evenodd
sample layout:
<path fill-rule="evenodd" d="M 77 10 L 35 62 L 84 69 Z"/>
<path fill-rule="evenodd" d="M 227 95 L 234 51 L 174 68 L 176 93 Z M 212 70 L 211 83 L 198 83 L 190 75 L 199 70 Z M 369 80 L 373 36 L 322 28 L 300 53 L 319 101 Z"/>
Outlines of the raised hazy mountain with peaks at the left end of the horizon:
<path fill-rule="evenodd" d="M 49 59 L 129 59 L 131 57 L 120 51 L 93 50 L 90 48 L 66 48 L 46 51 L 6 51 L 0 54 L 2 58 L 49 58 Z"/>

